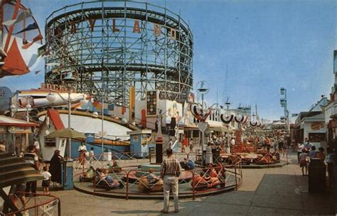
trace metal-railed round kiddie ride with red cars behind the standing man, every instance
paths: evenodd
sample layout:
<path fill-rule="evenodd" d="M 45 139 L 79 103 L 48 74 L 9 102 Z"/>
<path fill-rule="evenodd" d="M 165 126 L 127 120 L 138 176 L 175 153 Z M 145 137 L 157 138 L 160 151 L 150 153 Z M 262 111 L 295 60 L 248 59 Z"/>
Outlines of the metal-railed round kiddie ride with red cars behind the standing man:
<path fill-rule="evenodd" d="M 175 153 L 179 161 L 183 158 L 193 159 L 196 153 Z M 116 195 L 125 199 L 129 199 L 130 195 L 146 195 L 149 197 L 162 196 L 162 180 L 156 183 L 146 183 L 150 171 L 154 175 L 159 176 L 158 170 L 139 169 L 139 163 L 149 163 L 149 157 L 139 158 L 139 153 L 117 153 L 112 154 L 112 161 L 102 161 L 102 155 L 78 158 L 74 161 L 74 181 L 78 182 L 80 176 L 93 168 L 93 194 L 104 193 Z M 83 163 L 84 162 L 84 163 Z M 112 165 L 117 162 L 121 167 L 109 166 L 109 175 L 113 179 L 113 183 L 108 183 L 100 173 L 102 168 L 108 163 Z M 135 164 L 137 163 L 137 165 Z M 179 178 L 179 195 L 196 198 L 197 195 L 205 193 L 220 192 L 222 190 L 237 189 L 242 182 L 242 166 L 240 161 L 233 165 L 218 166 L 212 168 L 195 168 L 191 171 L 183 171 Z M 90 183 L 89 183 L 90 184 Z M 92 189 L 89 189 L 92 190 Z"/>

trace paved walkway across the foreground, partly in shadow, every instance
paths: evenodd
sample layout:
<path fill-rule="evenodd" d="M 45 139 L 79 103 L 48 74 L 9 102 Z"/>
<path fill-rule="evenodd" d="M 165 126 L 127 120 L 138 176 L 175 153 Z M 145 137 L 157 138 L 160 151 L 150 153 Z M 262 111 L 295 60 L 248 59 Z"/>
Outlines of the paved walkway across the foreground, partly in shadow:
<path fill-rule="evenodd" d="M 171 215 L 335 215 L 328 193 L 308 193 L 296 155 L 282 168 L 244 169 L 238 190 L 196 200 L 181 200 Z M 61 200 L 62 215 L 163 215 L 162 200 L 119 200 L 71 191 L 52 192 Z"/>

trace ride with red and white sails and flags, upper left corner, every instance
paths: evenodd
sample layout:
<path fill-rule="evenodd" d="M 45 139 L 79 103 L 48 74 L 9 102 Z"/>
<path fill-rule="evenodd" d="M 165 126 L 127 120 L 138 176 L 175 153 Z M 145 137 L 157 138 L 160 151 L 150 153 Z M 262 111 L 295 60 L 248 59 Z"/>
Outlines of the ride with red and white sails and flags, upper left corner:
<path fill-rule="evenodd" d="M 43 36 L 31 10 L 20 0 L 2 1 L 0 9 L 0 77 L 24 75 L 40 60 Z"/>

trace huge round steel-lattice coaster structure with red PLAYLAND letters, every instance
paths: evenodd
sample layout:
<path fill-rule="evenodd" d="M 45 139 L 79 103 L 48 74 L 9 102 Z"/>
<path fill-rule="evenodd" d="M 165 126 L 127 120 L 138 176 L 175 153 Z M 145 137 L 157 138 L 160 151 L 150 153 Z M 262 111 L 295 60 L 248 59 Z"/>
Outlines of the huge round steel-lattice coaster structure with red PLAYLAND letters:
<path fill-rule="evenodd" d="M 71 82 L 77 92 L 120 106 L 159 90 L 186 100 L 193 83 L 193 36 L 181 16 L 134 1 L 65 6 L 46 21 L 46 83 Z"/>

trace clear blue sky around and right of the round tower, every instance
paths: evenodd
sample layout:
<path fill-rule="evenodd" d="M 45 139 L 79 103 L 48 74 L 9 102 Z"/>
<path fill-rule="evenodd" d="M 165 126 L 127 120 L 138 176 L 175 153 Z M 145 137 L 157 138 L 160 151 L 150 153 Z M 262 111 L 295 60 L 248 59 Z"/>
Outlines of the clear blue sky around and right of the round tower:
<path fill-rule="evenodd" d="M 55 9 L 79 1 L 22 0 L 44 32 Z M 50 3 L 53 2 L 53 3 Z M 180 13 L 193 31 L 193 85 L 210 84 L 206 102 L 251 105 L 260 117 L 284 115 L 279 89 L 287 89 L 290 113 L 308 111 L 333 85 L 337 49 L 337 1 L 149 1 Z M 47 4 L 48 3 L 48 4 Z M 6 77 L 11 90 L 38 87 L 42 72 Z M 196 87 L 195 87 L 196 88 Z"/>

